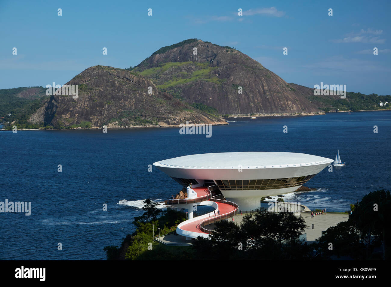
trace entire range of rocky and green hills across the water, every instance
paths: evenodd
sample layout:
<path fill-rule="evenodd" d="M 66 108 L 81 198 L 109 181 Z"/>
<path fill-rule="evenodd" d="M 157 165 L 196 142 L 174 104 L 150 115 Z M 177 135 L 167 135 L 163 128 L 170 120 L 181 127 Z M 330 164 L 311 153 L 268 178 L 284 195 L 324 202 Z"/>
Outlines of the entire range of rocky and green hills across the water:
<path fill-rule="evenodd" d="M 390 95 L 353 92 L 345 99 L 315 96 L 234 48 L 198 39 L 160 48 L 134 68 L 88 68 L 67 84 L 79 85 L 77 99 L 47 96 L 43 87 L 0 89 L 0 123 L 6 129 L 226 124 L 220 115 L 368 111 L 390 109 L 391 102 Z"/>

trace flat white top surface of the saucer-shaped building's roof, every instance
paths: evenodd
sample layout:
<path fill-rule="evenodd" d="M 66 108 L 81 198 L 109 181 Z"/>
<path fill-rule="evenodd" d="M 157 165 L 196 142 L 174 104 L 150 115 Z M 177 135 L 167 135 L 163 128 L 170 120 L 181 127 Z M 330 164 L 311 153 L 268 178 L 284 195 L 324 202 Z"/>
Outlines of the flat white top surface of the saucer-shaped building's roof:
<path fill-rule="evenodd" d="M 166 168 L 285 168 L 311 166 L 334 162 L 326 157 L 291 152 L 226 152 L 185 155 L 173 159 L 160 160 L 154 166 Z"/>

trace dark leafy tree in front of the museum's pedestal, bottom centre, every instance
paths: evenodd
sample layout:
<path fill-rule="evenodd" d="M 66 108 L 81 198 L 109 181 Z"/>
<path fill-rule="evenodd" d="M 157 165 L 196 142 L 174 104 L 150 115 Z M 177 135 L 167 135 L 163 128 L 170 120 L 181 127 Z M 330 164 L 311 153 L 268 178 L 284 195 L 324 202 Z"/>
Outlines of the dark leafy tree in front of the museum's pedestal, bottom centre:
<path fill-rule="evenodd" d="M 303 217 L 292 212 L 256 209 L 243 217 L 240 226 L 232 221 L 216 222 L 209 239 L 198 237 L 195 254 L 210 259 L 303 259 L 310 249 L 301 244 Z M 239 248 L 240 247 L 240 248 Z"/>

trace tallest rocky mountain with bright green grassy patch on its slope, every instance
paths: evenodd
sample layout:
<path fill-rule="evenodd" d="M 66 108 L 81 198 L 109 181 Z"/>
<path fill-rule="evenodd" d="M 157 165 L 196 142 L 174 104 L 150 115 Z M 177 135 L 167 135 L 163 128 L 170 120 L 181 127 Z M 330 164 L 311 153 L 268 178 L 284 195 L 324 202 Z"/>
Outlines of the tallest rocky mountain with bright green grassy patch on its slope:
<path fill-rule="evenodd" d="M 197 39 L 161 48 L 133 71 L 188 103 L 221 114 L 319 112 L 307 99 L 313 89 L 288 84 L 238 50 Z"/>

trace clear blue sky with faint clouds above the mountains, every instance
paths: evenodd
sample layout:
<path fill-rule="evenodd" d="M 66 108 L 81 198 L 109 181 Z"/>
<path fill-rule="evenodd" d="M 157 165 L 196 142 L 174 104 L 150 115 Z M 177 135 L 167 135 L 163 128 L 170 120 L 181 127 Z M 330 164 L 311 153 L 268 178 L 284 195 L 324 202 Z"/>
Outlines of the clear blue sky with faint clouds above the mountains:
<path fill-rule="evenodd" d="M 390 3 L 0 0 L 0 89 L 65 84 L 95 65 L 129 68 L 197 38 L 235 47 L 287 82 L 391 94 Z"/>

